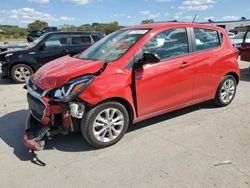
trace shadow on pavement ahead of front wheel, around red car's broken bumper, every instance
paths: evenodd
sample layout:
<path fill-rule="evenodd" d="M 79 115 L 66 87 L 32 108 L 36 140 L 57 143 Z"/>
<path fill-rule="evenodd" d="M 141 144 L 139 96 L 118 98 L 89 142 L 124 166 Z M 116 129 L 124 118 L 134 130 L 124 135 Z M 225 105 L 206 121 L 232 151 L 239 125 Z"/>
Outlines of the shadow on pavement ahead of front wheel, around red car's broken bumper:
<path fill-rule="evenodd" d="M 32 155 L 23 144 L 24 123 L 28 111 L 19 110 L 0 117 L 0 139 L 10 148 L 21 161 L 30 161 Z M 93 150 L 84 140 L 81 133 L 72 133 L 67 136 L 55 136 L 46 142 L 45 150 L 57 149 L 66 152 L 83 152 Z"/>

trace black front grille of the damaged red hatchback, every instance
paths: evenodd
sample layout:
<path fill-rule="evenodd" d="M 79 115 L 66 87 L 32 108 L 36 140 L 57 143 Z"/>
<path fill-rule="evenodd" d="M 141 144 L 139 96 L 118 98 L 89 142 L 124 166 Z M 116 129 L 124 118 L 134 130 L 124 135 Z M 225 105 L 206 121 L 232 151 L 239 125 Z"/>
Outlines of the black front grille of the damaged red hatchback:
<path fill-rule="evenodd" d="M 27 99 L 30 107 L 31 114 L 37 119 L 37 120 L 42 120 L 45 110 L 46 110 L 46 105 L 39 99 L 33 97 L 29 93 L 27 94 Z"/>

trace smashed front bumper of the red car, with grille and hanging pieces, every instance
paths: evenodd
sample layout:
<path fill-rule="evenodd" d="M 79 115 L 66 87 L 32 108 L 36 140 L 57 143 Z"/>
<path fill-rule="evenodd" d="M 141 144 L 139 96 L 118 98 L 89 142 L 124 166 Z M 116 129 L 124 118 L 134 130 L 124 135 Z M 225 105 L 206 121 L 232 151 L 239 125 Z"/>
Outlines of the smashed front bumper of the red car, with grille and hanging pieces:
<path fill-rule="evenodd" d="M 24 145 L 33 150 L 42 150 L 45 138 L 74 131 L 69 107 L 55 102 L 32 83 L 26 83 L 29 114 L 25 123 Z"/>

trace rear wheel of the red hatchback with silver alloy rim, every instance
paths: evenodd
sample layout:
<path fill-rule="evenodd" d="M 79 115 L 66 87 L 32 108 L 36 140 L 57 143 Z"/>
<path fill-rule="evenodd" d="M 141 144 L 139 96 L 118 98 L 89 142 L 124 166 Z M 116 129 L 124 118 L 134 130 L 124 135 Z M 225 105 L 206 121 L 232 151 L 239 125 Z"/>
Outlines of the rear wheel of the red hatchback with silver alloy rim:
<path fill-rule="evenodd" d="M 214 103 L 216 106 L 223 107 L 229 105 L 236 94 L 237 83 L 232 75 L 225 76 L 216 92 Z"/>

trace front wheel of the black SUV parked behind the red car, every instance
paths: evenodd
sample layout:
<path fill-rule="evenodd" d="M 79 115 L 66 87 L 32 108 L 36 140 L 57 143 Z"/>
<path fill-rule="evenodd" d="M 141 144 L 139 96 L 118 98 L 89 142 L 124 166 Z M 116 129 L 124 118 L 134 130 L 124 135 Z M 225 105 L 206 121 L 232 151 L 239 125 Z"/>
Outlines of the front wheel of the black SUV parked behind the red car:
<path fill-rule="evenodd" d="M 24 83 L 25 79 L 34 73 L 33 69 L 26 64 L 17 64 L 11 68 L 10 76 L 17 83 Z"/>

